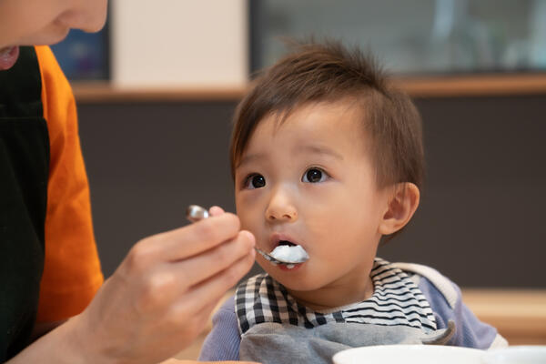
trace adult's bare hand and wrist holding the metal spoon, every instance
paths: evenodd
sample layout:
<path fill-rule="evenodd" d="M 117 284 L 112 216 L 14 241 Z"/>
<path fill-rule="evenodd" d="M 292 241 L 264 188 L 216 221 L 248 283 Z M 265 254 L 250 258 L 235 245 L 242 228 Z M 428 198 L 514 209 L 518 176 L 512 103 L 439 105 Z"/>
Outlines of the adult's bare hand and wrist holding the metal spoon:
<path fill-rule="evenodd" d="M 33 350 L 49 347 L 64 351 L 56 362 L 157 363 L 187 347 L 255 256 L 255 238 L 239 231 L 237 216 L 219 207 L 210 213 L 136 243 L 84 312 L 25 349 L 17 361 L 32 362 Z M 48 362 L 45 358 L 41 362 Z"/>

